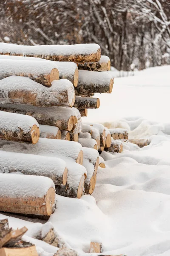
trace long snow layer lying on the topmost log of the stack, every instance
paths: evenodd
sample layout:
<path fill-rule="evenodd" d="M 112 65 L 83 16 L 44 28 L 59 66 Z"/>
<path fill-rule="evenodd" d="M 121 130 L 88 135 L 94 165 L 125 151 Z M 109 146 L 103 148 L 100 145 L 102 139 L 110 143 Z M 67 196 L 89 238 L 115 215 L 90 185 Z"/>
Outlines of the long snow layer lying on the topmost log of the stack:
<path fill-rule="evenodd" d="M 99 44 L 73 44 L 73 45 L 16 45 L 0 43 L 0 53 L 24 55 L 88 55 L 97 52 Z"/>

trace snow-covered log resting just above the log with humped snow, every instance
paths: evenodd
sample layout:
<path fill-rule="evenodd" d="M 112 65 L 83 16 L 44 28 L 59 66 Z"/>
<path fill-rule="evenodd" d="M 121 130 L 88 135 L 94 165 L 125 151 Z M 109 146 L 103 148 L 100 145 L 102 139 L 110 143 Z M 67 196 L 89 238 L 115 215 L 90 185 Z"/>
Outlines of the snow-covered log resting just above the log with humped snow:
<path fill-rule="evenodd" d="M 54 62 L 0 59 L 0 79 L 7 76 L 27 76 L 37 83 L 51 86 L 59 79 L 57 64 Z"/>

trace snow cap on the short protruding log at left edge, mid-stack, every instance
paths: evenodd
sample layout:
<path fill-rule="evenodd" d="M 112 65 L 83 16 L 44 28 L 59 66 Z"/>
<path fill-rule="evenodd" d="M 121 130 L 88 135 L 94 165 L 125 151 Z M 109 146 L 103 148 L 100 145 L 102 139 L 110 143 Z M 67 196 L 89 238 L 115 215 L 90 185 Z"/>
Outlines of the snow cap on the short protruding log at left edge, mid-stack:
<path fill-rule="evenodd" d="M 33 125 L 39 127 L 36 119 L 32 116 L 0 111 L 0 128 L 2 129 L 13 132 L 22 129 L 27 133 Z"/>

